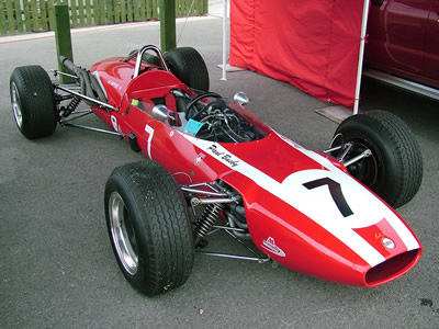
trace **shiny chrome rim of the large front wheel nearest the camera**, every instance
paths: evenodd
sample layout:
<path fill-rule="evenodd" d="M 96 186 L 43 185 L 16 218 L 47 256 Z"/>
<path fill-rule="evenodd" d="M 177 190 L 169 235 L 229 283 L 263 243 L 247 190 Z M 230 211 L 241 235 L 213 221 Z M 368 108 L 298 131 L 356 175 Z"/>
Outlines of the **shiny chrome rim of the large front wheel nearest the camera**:
<path fill-rule="evenodd" d="M 113 192 L 109 200 L 111 235 L 117 257 L 131 275 L 138 269 L 137 243 L 133 224 L 122 196 Z"/>

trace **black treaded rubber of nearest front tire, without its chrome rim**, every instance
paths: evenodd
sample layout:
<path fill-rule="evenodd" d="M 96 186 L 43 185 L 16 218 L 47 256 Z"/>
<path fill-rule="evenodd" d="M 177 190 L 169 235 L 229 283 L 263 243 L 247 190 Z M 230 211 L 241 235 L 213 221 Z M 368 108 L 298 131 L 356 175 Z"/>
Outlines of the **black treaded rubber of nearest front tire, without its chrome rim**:
<path fill-rule="evenodd" d="M 147 237 L 147 282 L 135 287 L 154 296 L 182 285 L 192 270 L 194 248 L 185 202 L 172 177 L 153 161 L 119 167 L 114 175 L 130 182 Z"/>

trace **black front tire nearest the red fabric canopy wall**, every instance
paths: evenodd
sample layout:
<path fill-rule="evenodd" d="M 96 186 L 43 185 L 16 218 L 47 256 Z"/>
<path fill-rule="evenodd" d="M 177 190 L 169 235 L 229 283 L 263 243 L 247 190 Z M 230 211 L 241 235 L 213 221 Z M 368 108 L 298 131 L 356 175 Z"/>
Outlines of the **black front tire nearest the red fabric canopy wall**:
<path fill-rule="evenodd" d="M 372 156 L 361 159 L 348 171 L 394 208 L 409 202 L 423 180 L 423 156 L 407 124 L 385 111 L 371 111 L 345 120 L 337 128 L 333 145 L 353 141 L 346 160 L 365 149 Z M 335 141 L 335 143 L 334 143 Z"/>

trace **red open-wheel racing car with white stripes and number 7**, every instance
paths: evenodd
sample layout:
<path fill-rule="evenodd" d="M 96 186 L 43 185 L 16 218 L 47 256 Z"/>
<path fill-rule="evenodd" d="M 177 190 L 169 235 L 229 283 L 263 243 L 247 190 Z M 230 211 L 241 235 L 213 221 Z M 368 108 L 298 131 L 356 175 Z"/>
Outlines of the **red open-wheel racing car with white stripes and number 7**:
<path fill-rule="evenodd" d="M 113 134 L 149 159 L 114 169 L 104 192 L 112 247 L 137 291 L 151 296 L 182 285 L 195 252 L 272 260 L 369 287 L 418 262 L 420 242 L 393 208 L 418 191 L 423 161 L 395 115 L 351 116 L 318 152 L 260 122 L 243 106 L 244 93 L 227 103 L 210 92 L 193 48 L 162 55 L 148 45 L 90 70 L 59 60 L 76 83 L 52 81 L 40 66 L 12 72 L 16 125 L 30 139 L 52 135 L 57 124 Z M 111 131 L 75 124 L 90 113 Z M 217 230 L 246 252 L 209 250 Z"/>

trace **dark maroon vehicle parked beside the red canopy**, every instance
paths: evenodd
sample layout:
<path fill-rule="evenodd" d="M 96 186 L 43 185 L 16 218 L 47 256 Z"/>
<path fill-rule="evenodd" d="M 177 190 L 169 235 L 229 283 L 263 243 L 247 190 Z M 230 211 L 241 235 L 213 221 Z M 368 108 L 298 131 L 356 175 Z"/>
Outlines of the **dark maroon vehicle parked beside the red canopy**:
<path fill-rule="evenodd" d="M 439 89 L 439 0 L 371 2 L 365 67 Z"/>

